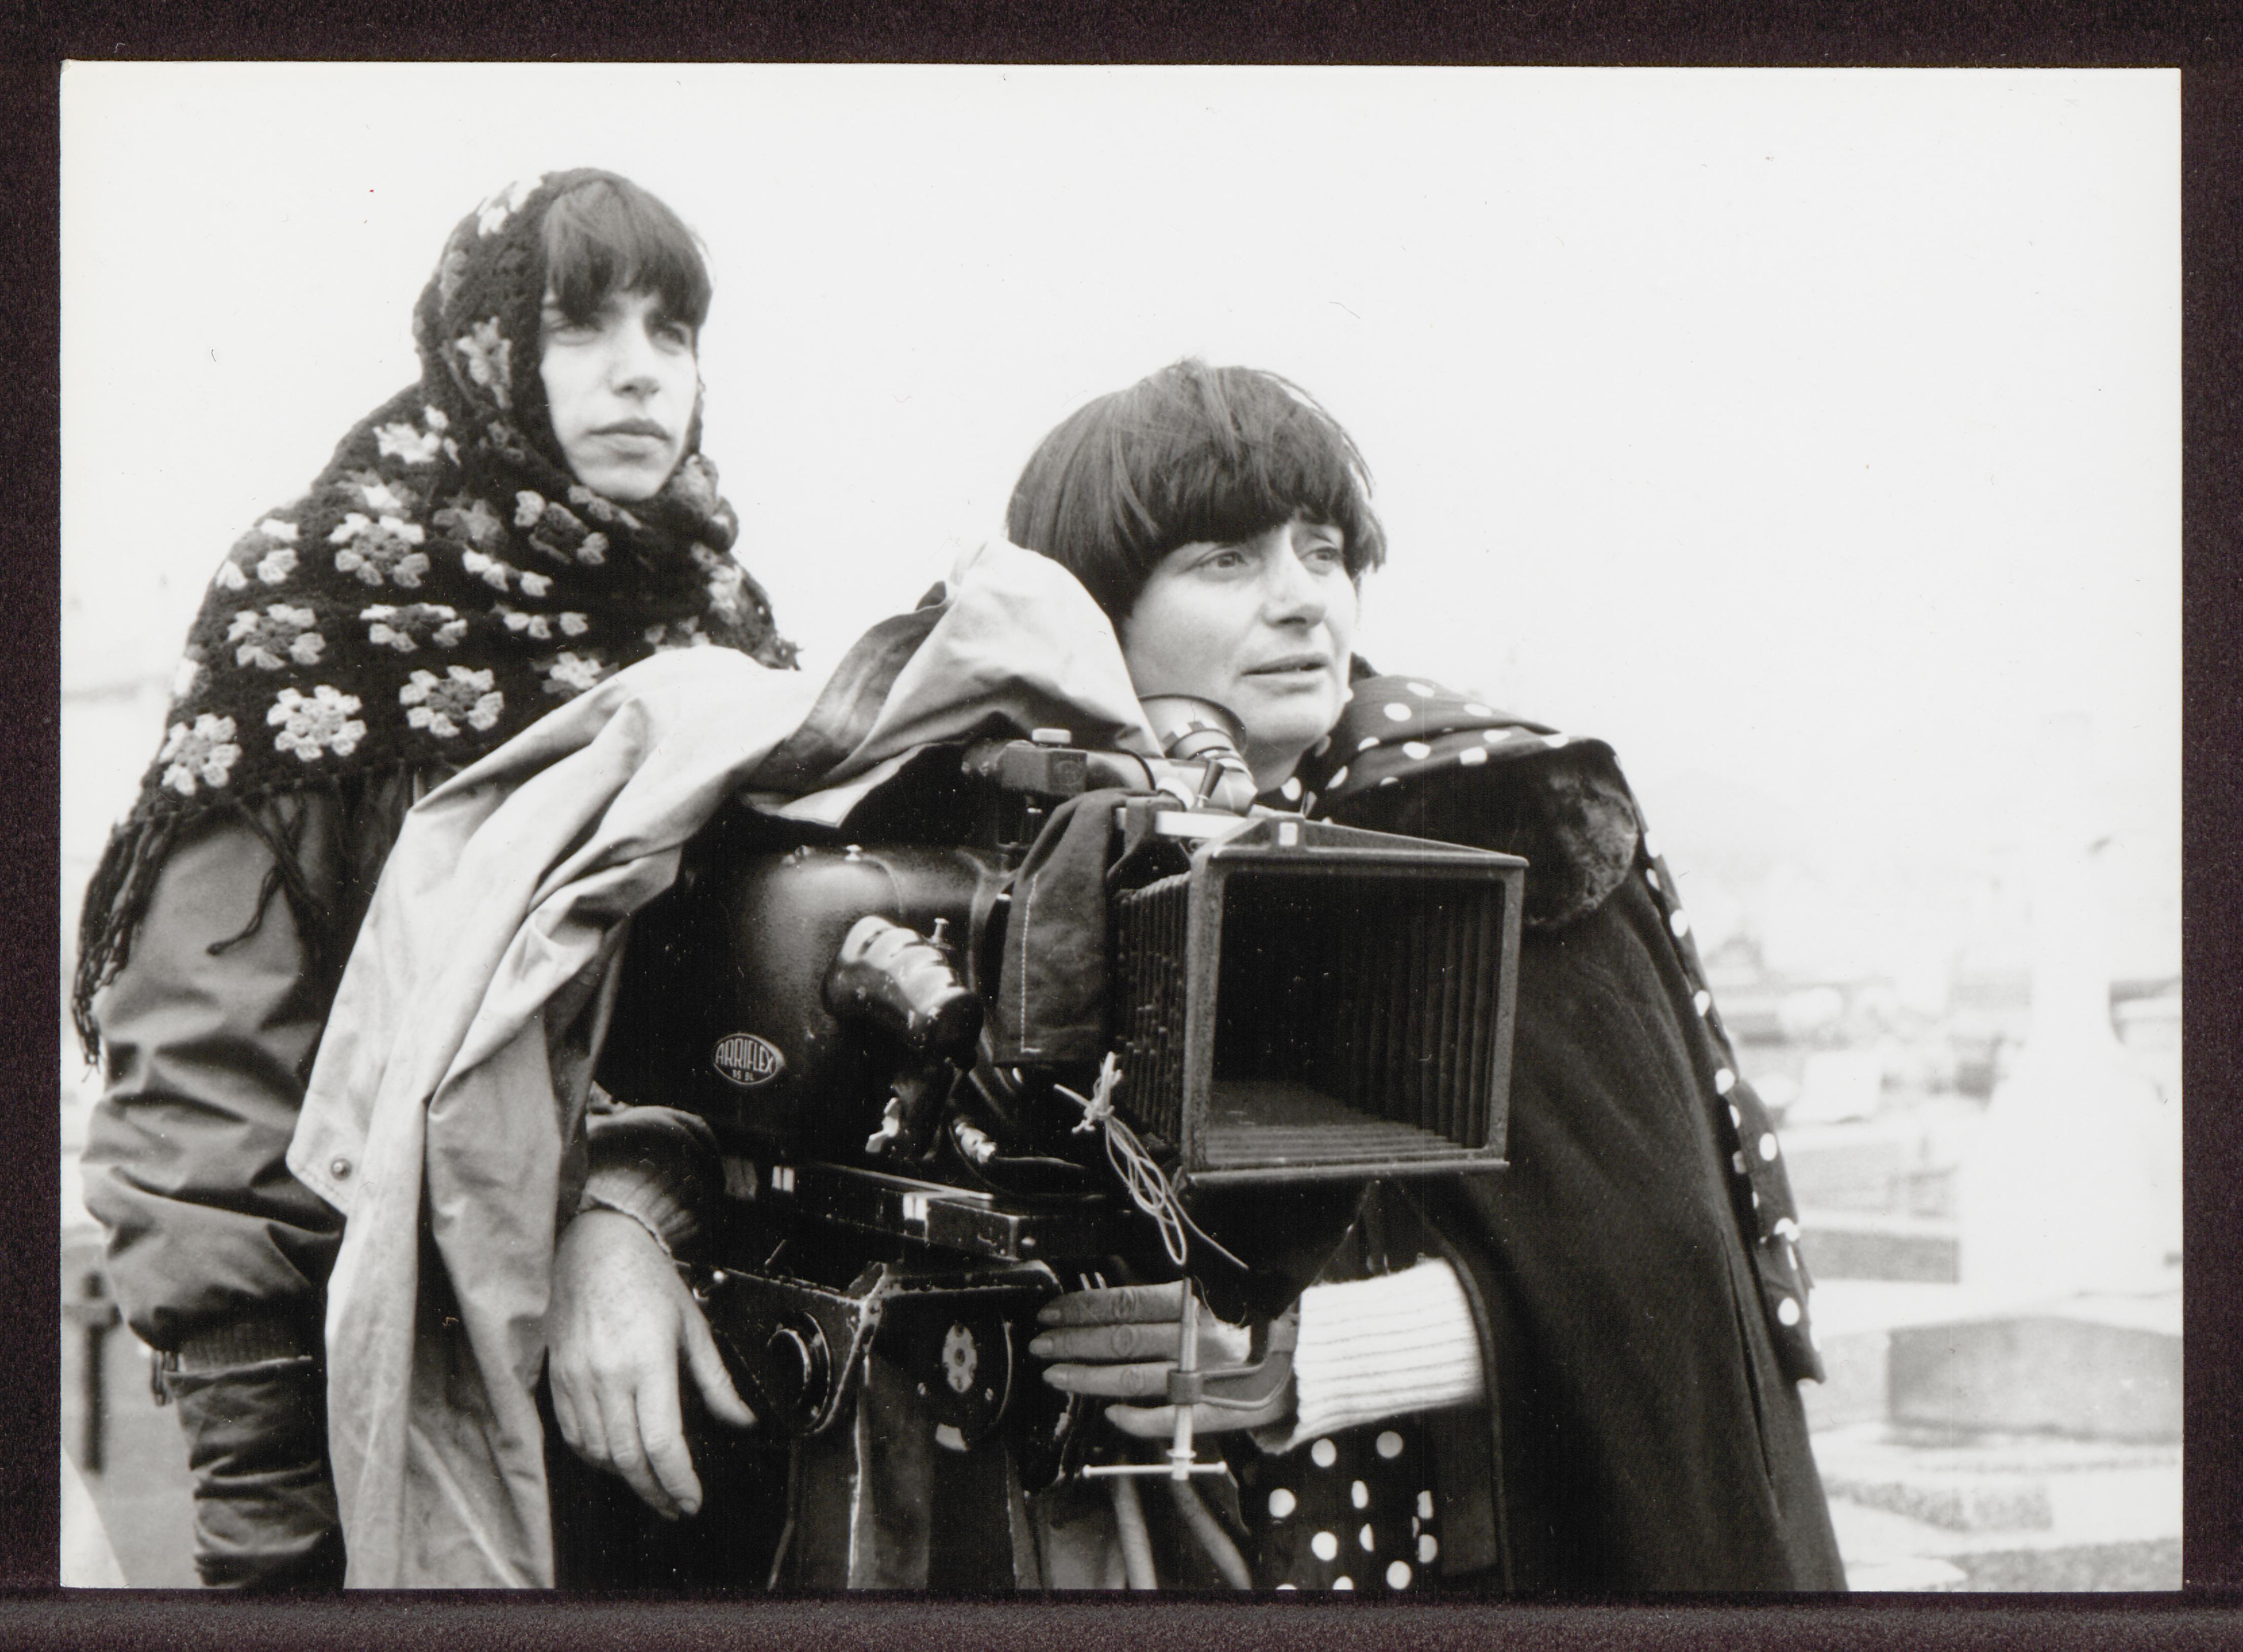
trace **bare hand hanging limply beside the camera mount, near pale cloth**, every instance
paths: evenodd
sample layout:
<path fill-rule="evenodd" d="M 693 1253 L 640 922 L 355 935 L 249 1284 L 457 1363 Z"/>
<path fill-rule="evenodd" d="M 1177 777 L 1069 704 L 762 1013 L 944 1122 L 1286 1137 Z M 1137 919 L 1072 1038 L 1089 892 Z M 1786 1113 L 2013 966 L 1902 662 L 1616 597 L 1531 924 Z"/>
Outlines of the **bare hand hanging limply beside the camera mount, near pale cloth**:
<path fill-rule="evenodd" d="M 693 1293 L 653 1235 L 615 1210 L 585 1210 L 554 1251 L 547 1318 L 554 1419 L 570 1448 L 666 1520 L 700 1509 L 700 1477 L 677 1410 L 677 1365 L 709 1412 L 756 1421 L 724 1374 Z"/>

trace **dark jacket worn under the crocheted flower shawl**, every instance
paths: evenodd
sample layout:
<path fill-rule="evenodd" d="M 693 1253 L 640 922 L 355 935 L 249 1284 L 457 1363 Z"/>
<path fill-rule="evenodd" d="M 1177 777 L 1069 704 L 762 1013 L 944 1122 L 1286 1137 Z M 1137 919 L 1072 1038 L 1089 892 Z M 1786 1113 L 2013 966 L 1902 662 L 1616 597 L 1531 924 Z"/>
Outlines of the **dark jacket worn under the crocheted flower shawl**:
<path fill-rule="evenodd" d="M 285 1154 L 343 957 L 417 789 L 393 773 L 271 798 L 256 825 L 202 816 L 94 1004 L 103 1094 L 85 1208 L 108 1228 L 126 1322 L 166 1356 L 204 1583 L 343 1580 L 321 1356 L 343 1224 Z M 312 903 L 283 897 L 274 841 L 294 847 Z"/>

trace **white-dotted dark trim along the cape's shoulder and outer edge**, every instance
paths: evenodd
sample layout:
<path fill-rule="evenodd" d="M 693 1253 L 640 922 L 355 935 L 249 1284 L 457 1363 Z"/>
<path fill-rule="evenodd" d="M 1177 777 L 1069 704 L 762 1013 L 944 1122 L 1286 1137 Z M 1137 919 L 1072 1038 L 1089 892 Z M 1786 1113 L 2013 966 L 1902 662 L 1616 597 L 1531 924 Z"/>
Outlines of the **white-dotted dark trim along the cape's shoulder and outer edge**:
<path fill-rule="evenodd" d="M 1525 722 L 1424 677 L 1357 677 L 1353 690 L 1355 697 L 1341 713 L 1339 726 L 1301 764 L 1299 785 L 1287 782 L 1292 791 L 1274 791 L 1263 798 L 1265 802 L 1303 814 L 1330 814 L 1353 798 L 1409 780 L 1440 773 L 1494 776 L 1516 764 L 1550 762 L 1552 753 L 1561 751 L 1610 762 L 1610 749 L 1599 740 Z M 1689 912 L 1640 811 L 1626 876 L 1642 879 L 1658 903 L 1667 941 L 1689 982 L 1696 1011 L 1687 1027 L 1691 1062 L 1714 1141 L 1727 1166 L 1729 1199 L 1754 1264 L 1761 1307 L 1783 1374 L 1792 1381 L 1821 1381 L 1824 1363 L 1808 1320 L 1812 1278 L 1799 1255 L 1799 1206 L 1792 1199 L 1774 1121 L 1738 1074 L 1736 1054 L 1698 962 Z"/>

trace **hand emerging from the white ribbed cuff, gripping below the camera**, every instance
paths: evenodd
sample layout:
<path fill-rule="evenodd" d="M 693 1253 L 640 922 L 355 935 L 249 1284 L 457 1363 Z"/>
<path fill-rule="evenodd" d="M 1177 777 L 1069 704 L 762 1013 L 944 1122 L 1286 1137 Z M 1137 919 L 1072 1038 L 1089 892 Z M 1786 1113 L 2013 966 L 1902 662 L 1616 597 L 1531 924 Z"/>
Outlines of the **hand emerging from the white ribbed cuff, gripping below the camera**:
<path fill-rule="evenodd" d="M 1169 1439 L 1175 1435 L 1175 1405 L 1166 1403 L 1169 1372 L 1182 1347 L 1184 1287 L 1122 1284 L 1095 1291 L 1070 1291 L 1036 1314 L 1045 1327 L 1027 1352 L 1059 1361 L 1043 1381 L 1063 1394 L 1097 1394 L 1104 1399 L 1153 1399 L 1153 1405 L 1108 1405 L 1106 1419 L 1124 1435 Z M 1261 1379 L 1240 1376 L 1225 1383 L 1225 1399 L 1243 1405 L 1191 1408 L 1193 1432 L 1211 1435 L 1231 1428 L 1265 1428 L 1292 1414 L 1292 1340 L 1281 1322 L 1272 1327 L 1274 1358 Z M 1209 1379 L 1252 1358 L 1254 1336 L 1243 1325 L 1225 1325 L 1204 1309 L 1198 1314 L 1198 1367 Z"/>

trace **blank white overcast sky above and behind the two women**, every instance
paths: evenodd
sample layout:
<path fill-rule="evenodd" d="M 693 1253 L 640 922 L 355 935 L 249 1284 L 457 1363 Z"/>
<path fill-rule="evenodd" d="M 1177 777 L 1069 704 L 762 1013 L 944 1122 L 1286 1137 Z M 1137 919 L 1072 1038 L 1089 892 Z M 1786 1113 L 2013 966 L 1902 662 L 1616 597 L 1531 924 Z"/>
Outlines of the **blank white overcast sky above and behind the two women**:
<path fill-rule="evenodd" d="M 168 675 L 449 226 L 592 164 L 709 244 L 810 670 L 1202 354 L 1370 457 L 1362 650 L 1604 735 L 1671 838 L 1999 854 L 2061 764 L 2178 885 L 2178 161 L 2171 72 L 72 65 L 65 690 Z"/>

